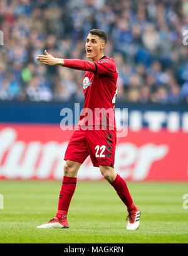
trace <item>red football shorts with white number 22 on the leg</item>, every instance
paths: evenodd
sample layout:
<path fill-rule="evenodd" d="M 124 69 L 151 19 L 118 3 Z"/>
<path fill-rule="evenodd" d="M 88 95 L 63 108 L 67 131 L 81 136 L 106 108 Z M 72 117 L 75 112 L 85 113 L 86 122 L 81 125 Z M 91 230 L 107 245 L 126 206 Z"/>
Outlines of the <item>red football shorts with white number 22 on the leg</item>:
<path fill-rule="evenodd" d="M 90 155 L 93 166 L 107 165 L 114 167 L 117 130 L 82 130 L 76 126 L 66 148 L 64 160 L 83 164 Z"/>

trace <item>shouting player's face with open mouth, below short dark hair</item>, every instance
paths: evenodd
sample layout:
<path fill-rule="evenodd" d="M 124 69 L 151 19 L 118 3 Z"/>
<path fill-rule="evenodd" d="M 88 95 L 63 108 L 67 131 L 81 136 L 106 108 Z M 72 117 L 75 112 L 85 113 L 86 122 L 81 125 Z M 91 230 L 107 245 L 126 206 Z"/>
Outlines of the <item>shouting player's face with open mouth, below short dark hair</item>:
<path fill-rule="evenodd" d="M 85 43 L 86 57 L 91 58 L 91 60 L 98 60 L 104 47 L 105 43 L 98 35 L 89 34 Z"/>

